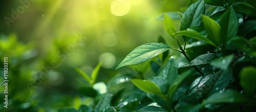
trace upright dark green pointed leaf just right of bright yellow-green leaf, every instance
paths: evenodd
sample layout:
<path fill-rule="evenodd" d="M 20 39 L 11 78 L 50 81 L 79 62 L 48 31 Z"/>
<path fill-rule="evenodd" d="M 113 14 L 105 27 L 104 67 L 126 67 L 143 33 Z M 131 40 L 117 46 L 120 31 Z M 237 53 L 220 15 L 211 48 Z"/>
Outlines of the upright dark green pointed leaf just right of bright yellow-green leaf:
<path fill-rule="evenodd" d="M 222 32 L 222 43 L 237 35 L 238 32 L 238 16 L 230 7 L 221 17 L 220 26 Z"/>

